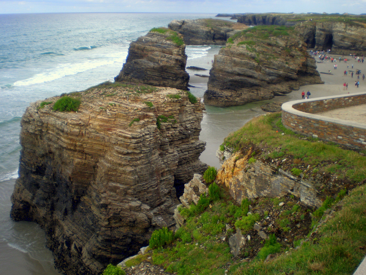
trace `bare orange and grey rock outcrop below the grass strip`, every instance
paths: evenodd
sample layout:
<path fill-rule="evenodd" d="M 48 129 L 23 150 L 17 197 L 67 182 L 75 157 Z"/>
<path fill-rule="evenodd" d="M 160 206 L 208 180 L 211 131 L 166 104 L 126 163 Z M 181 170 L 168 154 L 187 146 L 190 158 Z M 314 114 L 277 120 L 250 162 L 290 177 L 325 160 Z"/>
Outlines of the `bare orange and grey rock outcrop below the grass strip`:
<path fill-rule="evenodd" d="M 233 154 L 225 160 L 217 172 L 216 180 L 228 187 L 231 196 L 241 203 L 245 198 L 277 197 L 293 195 L 310 207 L 319 207 L 324 201 L 318 192 L 318 179 L 295 177 L 278 169 L 277 161 L 267 164 L 262 161 L 249 163 L 252 151 Z M 281 160 L 282 161 L 282 160 Z M 281 162 L 280 161 L 280 162 Z"/>

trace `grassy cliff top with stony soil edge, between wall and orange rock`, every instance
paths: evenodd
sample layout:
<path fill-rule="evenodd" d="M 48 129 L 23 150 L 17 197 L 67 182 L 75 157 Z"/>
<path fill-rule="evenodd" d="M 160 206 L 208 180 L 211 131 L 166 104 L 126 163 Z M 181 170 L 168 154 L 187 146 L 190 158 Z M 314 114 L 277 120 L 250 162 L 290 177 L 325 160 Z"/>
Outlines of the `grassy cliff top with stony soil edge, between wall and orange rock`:
<path fill-rule="evenodd" d="M 254 118 L 224 140 L 224 146 L 252 160 L 277 165 L 295 177 L 315 178 L 317 190 L 334 195 L 366 179 L 366 157 L 358 151 L 297 135 L 284 128 L 281 113 Z"/>

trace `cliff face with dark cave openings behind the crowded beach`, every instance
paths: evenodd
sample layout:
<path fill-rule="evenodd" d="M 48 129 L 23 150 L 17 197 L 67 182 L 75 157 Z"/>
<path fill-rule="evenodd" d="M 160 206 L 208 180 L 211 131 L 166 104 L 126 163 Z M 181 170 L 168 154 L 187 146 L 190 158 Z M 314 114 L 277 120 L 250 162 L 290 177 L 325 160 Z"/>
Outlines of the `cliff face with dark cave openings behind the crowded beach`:
<path fill-rule="evenodd" d="M 361 54 L 366 51 L 366 24 L 361 22 L 307 22 L 296 26 L 308 48 L 333 54 Z"/>

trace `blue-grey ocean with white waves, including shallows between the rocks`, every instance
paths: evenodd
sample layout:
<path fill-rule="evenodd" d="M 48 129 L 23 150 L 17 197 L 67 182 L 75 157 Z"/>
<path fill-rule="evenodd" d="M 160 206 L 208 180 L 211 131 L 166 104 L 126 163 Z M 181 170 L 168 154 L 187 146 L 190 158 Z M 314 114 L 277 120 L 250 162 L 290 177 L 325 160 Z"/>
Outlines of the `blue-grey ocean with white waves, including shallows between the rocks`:
<path fill-rule="evenodd" d="M 0 274 L 59 274 L 36 223 L 10 219 L 10 196 L 18 177 L 20 119 L 30 102 L 113 81 L 131 41 L 173 19 L 213 18 L 198 13 L 0 14 Z M 222 18 L 221 18 L 222 19 Z M 229 20 L 229 19 L 228 19 Z M 210 69 L 219 46 L 187 46 L 187 66 Z M 187 70 L 188 71 L 188 70 Z M 208 71 L 206 71 L 208 74 Z M 207 78 L 191 76 L 199 97 Z M 201 73 L 201 72 L 200 72 Z M 219 168 L 215 152 L 228 133 L 263 113 L 252 103 L 206 106 L 201 160 Z"/>

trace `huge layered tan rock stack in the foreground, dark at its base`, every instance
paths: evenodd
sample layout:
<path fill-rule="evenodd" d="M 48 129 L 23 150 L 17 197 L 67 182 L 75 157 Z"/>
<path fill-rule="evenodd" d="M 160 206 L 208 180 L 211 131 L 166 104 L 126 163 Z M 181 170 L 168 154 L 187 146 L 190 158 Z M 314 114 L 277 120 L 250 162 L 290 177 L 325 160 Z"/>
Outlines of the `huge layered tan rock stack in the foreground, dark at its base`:
<path fill-rule="evenodd" d="M 44 228 L 65 274 L 100 274 L 175 225 L 174 182 L 207 167 L 198 159 L 203 104 L 152 88 L 95 88 L 78 94 L 78 112 L 36 102 L 22 117 L 11 217 Z"/>

